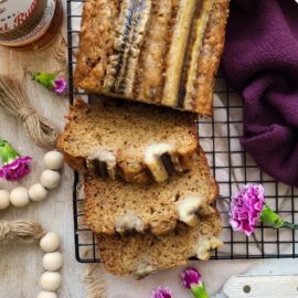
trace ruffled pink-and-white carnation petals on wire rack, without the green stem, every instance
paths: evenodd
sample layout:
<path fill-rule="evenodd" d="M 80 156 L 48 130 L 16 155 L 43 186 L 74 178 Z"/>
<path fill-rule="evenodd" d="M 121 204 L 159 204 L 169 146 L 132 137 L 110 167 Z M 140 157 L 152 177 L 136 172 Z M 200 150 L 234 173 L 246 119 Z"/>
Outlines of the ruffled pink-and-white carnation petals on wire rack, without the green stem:
<path fill-rule="evenodd" d="M 265 205 L 264 188 L 260 184 L 246 184 L 232 196 L 230 224 L 234 231 L 252 235 Z"/>

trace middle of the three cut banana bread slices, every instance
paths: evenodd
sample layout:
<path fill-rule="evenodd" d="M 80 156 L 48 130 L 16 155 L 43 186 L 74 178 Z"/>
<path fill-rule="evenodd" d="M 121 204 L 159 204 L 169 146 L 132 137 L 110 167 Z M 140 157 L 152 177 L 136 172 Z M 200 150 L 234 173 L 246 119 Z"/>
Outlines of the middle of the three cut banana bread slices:
<path fill-rule="evenodd" d="M 213 212 L 219 189 L 202 149 L 193 169 L 163 183 L 137 184 L 85 177 L 86 224 L 95 233 L 115 234 L 150 230 L 156 235 L 179 221 L 190 226 Z"/>

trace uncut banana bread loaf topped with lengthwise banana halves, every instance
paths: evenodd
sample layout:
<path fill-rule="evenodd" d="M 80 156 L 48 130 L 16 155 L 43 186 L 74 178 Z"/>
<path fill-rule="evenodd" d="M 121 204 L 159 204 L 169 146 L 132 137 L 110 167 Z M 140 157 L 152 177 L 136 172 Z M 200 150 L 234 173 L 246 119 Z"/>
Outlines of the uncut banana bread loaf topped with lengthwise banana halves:
<path fill-rule="evenodd" d="M 228 0 L 86 0 L 75 86 L 211 115 L 227 14 Z"/>

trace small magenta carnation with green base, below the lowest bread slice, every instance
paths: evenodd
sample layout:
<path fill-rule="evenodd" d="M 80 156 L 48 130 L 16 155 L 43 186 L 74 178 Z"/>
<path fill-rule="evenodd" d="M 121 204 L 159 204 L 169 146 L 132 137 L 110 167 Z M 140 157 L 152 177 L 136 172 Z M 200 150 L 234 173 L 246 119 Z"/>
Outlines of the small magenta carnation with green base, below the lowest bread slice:
<path fill-rule="evenodd" d="M 209 298 L 201 274 L 196 268 L 191 267 L 185 269 L 180 275 L 182 285 L 190 289 L 196 298 Z"/>

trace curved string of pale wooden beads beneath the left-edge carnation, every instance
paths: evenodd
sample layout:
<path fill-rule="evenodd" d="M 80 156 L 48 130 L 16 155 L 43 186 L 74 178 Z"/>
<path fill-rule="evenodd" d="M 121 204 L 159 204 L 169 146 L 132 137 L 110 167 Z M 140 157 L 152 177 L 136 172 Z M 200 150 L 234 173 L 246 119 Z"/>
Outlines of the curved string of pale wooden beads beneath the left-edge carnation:
<path fill-rule="evenodd" d="M 12 204 L 15 207 L 26 206 L 30 201 L 40 202 L 46 199 L 47 191 L 58 187 L 61 182 L 61 173 L 58 170 L 63 168 L 64 158 L 58 151 L 49 151 L 44 155 L 44 170 L 41 174 L 40 182 L 33 184 L 29 189 L 18 187 L 10 193 L 0 190 L 0 210 L 6 210 Z"/>

